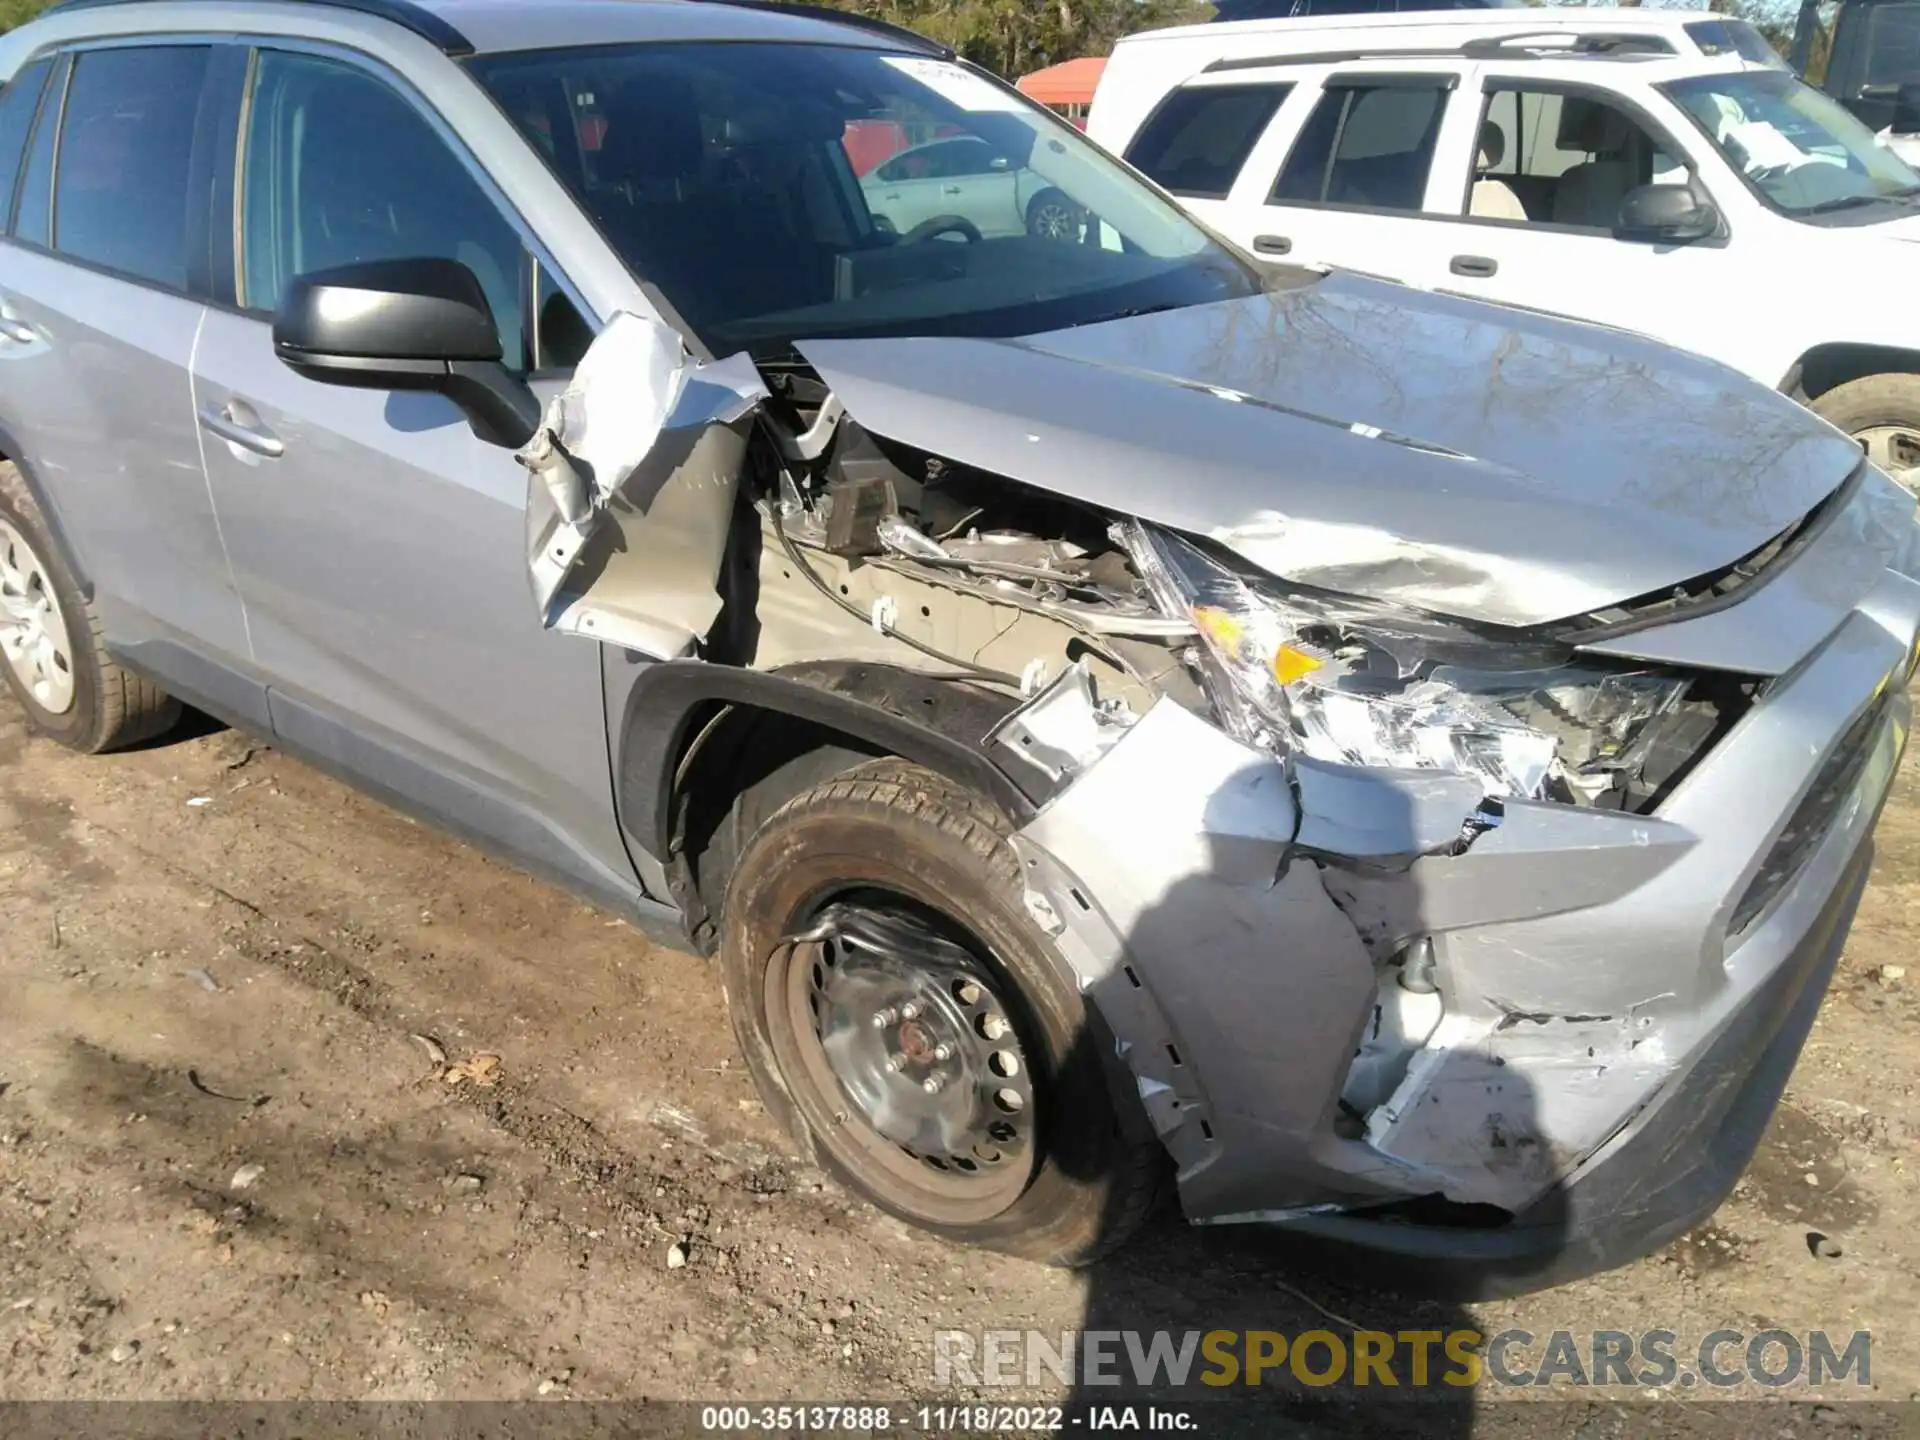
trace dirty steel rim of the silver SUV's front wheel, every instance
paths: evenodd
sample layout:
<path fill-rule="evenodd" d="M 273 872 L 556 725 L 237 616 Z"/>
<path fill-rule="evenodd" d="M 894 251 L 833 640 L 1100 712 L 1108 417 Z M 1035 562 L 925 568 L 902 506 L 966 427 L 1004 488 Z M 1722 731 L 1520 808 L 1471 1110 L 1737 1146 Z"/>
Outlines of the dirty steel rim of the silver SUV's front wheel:
<path fill-rule="evenodd" d="M 768 966 L 803 1110 L 831 1121 L 829 1148 L 870 1162 L 870 1188 L 935 1225 L 998 1215 L 1039 1165 L 1027 1025 L 983 956 L 947 916 L 862 889 L 812 906 Z"/>

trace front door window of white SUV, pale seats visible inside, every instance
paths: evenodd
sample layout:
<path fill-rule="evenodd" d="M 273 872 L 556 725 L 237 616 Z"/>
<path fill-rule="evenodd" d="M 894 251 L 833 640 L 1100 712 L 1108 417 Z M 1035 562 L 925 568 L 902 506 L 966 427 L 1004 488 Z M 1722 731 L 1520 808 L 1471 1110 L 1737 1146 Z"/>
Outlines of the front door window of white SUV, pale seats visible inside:
<path fill-rule="evenodd" d="M 1686 180 L 1686 161 L 1634 115 L 1597 96 L 1498 88 L 1463 213 L 1473 219 L 1615 228 L 1626 192 Z"/>

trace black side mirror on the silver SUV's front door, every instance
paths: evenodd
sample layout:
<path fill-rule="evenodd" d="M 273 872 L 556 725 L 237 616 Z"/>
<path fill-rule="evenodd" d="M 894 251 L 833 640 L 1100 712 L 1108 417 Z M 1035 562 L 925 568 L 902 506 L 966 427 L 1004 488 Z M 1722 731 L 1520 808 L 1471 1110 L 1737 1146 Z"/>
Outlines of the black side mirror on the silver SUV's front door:
<path fill-rule="evenodd" d="M 442 394 L 493 445 L 518 449 L 540 428 L 540 399 L 501 365 L 480 280 L 453 259 L 382 259 L 294 278 L 273 317 L 273 353 L 321 384 Z"/>

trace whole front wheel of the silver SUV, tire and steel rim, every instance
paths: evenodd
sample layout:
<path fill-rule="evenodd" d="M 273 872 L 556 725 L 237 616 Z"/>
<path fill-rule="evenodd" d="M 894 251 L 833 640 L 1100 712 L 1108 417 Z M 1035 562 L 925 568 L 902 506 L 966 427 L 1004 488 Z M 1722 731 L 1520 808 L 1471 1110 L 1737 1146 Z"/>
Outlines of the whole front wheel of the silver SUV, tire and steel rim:
<path fill-rule="evenodd" d="M 1056 1265 L 1152 1208 L 1160 1142 L 972 791 L 889 758 L 791 799 L 739 856 L 720 960 L 768 1110 L 874 1206 Z"/>

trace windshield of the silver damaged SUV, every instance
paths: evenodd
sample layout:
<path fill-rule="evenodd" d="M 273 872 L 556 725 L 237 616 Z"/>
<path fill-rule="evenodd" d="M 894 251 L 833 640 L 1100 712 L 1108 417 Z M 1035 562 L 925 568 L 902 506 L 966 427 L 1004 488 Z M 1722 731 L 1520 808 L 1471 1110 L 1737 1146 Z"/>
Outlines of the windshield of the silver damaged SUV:
<path fill-rule="evenodd" d="M 1031 334 L 1258 288 L 1073 127 L 952 61 L 678 42 L 470 63 L 714 353 Z"/>

